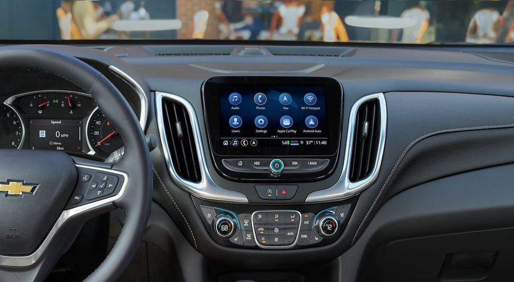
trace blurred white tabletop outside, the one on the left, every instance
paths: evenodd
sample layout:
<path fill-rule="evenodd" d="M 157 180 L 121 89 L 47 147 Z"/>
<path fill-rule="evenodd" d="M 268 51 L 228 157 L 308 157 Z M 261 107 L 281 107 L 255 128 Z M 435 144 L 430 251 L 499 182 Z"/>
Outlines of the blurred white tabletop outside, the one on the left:
<path fill-rule="evenodd" d="M 117 31 L 159 31 L 177 30 L 182 27 L 180 19 L 143 19 L 141 21 L 120 20 L 114 22 L 112 29 Z"/>

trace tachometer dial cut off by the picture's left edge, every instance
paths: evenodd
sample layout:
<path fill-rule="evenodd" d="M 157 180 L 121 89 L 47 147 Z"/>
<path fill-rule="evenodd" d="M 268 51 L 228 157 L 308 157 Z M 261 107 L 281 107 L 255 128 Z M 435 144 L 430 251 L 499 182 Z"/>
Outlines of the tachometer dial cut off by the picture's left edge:
<path fill-rule="evenodd" d="M 23 138 L 20 117 L 6 106 L 0 105 L 0 149 L 17 149 Z"/>

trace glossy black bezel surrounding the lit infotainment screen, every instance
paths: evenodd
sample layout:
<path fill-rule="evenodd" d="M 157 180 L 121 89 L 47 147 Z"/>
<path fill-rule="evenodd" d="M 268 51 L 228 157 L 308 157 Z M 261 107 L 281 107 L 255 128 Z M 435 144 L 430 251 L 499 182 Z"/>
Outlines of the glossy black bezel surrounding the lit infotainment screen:
<path fill-rule="evenodd" d="M 326 147 L 242 147 L 223 146 L 220 131 L 221 86 L 242 84 L 245 87 L 259 85 L 301 87 L 317 86 L 325 90 L 328 140 Z M 328 77 L 277 77 L 277 76 L 217 76 L 206 80 L 202 89 L 206 128 L 211 152 L 218 156 L 333 156 L 340 146 L 342 124 L 342 87 Z M 308 149 L 308 150 L 307 150 Z"/>

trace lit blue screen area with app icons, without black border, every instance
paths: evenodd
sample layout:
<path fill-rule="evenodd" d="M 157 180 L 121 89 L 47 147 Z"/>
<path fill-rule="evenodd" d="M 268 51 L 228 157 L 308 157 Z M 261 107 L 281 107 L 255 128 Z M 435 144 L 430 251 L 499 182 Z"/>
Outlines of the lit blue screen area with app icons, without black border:
<path fill-rule="evenodd" d="M 223 146 L 329 146 L 323 86 L 234 84 L 222 85 L 220 94 Z"/>

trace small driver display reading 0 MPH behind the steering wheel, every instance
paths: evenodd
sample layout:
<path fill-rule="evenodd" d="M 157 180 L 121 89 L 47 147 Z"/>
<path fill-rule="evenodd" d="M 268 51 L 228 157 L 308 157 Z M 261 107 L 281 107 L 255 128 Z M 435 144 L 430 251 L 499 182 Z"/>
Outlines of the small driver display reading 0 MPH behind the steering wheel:
<path fill-rule="evenodd" d="M 30 119 L 30 149 L 82 151 L 81 119 Z"/>

